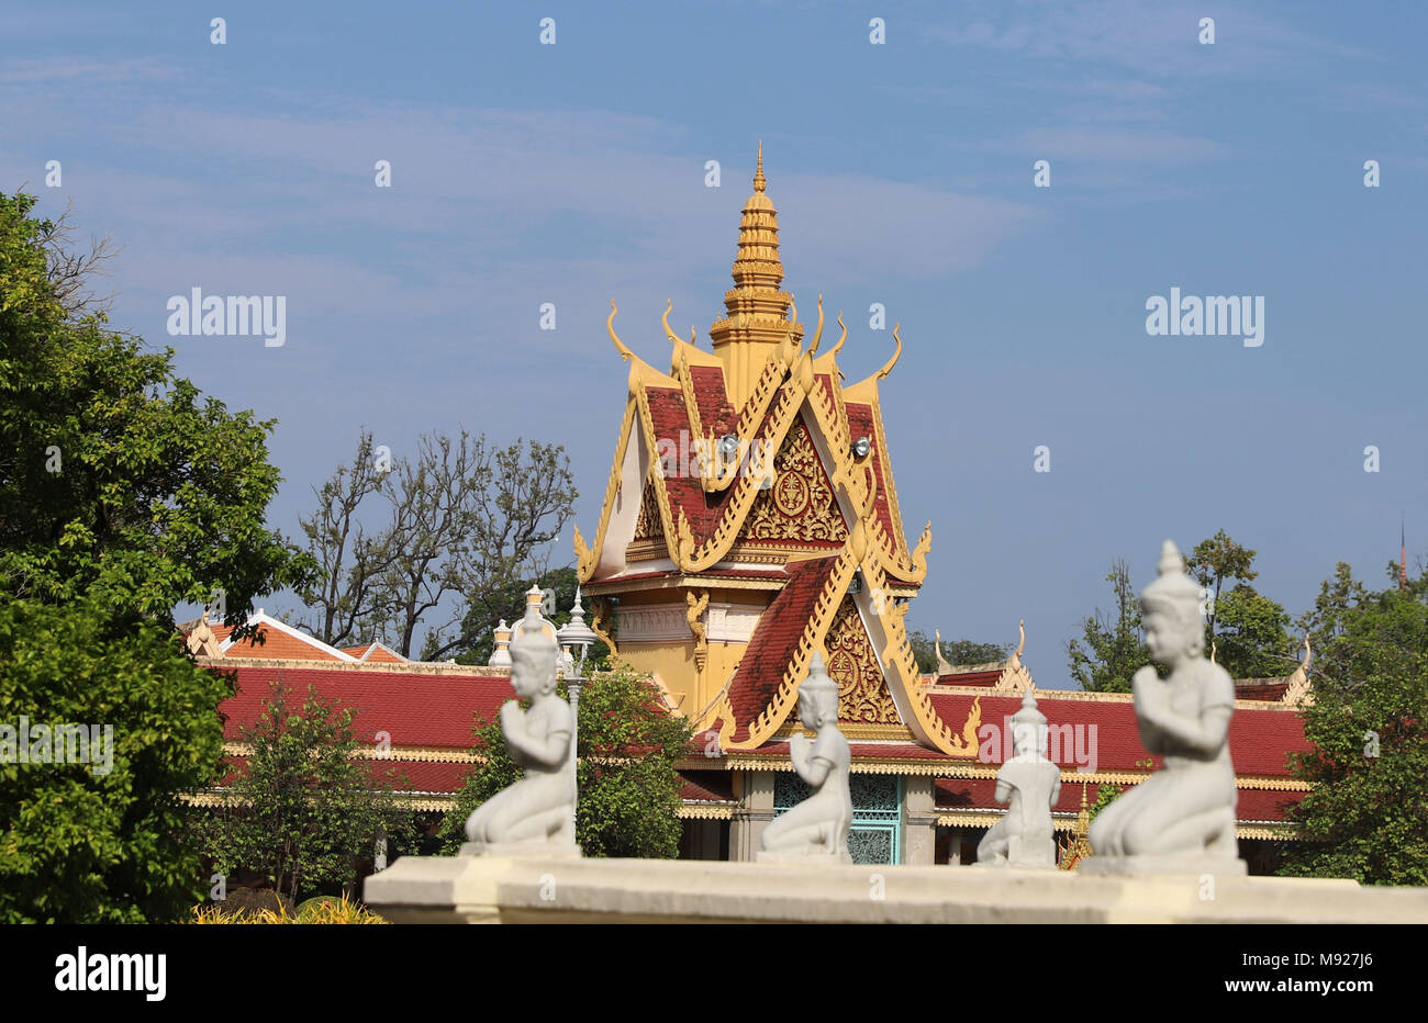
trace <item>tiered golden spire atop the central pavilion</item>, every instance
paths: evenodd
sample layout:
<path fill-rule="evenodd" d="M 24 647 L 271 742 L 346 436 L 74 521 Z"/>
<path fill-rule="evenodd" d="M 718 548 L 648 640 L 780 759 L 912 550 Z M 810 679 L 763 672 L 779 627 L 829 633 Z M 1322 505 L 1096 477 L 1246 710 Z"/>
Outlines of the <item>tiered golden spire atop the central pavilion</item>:
<path fill-rule="evenodd" d="M 768 358 L 767 345 L 795 344 L 803 327 L 788 318 L 793 295 L 780 291 L 784 264 L 778 258 L 778 210 L 768 198 L 764 177 L 764 143 L 758 143 L 754 194 L 744 203 L 738 223 L 738 254 L 734 257 L 734 287 L 724 292 L 728 315 L 714 322 L 710 340 L 724 361 L 730 401 L 735 408 L 754 390 Z"/>

